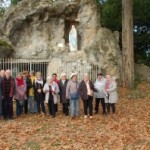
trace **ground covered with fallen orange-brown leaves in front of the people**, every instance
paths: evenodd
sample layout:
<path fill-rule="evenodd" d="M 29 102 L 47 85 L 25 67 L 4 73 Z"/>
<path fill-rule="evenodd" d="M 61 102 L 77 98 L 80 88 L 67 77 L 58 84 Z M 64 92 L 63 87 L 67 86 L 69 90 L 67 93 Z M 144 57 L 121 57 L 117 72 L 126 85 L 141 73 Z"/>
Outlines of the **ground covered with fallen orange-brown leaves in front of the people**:
<path fill-rule="evenodd" d="M 81 116 L 75 120 L 61 114 L 24 115 L 0 120 L 0 150 L 149 150 L 150 85 L 134 91 L 120 88 L 115 116 Z M 82 108 L 82 106 L 80 106 Z"/>

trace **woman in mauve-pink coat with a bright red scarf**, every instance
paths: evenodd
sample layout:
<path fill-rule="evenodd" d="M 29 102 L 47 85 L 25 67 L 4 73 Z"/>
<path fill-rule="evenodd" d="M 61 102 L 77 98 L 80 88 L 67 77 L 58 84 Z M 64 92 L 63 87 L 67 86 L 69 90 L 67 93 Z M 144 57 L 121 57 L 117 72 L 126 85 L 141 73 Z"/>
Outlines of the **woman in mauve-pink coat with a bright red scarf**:
<path fill-rule="evenodd" d="M 26 95 L 27 85 L 26 82 L 23 80 L 22 73 L 18 73 L 17 78 L 15 80 L 15 84 L 16 84 L 16 94 L 14 98 L 16 100 L 16 114 L 18 117 L 23 113 L 23 105 L 27 100 Z"/>

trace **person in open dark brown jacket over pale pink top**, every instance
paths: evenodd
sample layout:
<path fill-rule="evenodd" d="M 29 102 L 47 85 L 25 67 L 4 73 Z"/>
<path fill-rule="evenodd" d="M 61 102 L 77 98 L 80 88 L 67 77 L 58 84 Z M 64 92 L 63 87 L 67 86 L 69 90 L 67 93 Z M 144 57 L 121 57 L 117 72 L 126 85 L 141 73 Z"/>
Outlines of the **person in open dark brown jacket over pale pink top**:
<path fill-rule="evenodd" d="M 88 115 L 88 108 L 89 108 L 89 114 L 90 118 L 93 118 L 93 92 L 97 92 L 97 90 L 94 88 L 94 85 L 91 80 L 89 80 L 89 75 L 85 74 L 84 79 L 81 81 L 79 85 L 79 93 L 81 96 L 81 99 L 83 100 L 83 106 L 84 106 L 84 118 L 87 118 Z"/>

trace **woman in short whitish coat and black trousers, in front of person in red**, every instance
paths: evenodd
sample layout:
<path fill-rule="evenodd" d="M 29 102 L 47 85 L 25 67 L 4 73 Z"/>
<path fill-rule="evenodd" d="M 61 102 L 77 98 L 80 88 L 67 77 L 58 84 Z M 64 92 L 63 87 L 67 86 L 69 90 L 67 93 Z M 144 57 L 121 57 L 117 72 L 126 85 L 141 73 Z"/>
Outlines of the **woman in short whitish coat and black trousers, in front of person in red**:
<path fill-rule="evenodd" d="M 57 93 L 59 88 L 53 78 L 48 77 L 47 83 L 45 83 L 43 92 L 45 93 L 45 103 L 48 104 L 49 112 L 52 118 L 56 115 L 55 105 L 57 104 Z"/>

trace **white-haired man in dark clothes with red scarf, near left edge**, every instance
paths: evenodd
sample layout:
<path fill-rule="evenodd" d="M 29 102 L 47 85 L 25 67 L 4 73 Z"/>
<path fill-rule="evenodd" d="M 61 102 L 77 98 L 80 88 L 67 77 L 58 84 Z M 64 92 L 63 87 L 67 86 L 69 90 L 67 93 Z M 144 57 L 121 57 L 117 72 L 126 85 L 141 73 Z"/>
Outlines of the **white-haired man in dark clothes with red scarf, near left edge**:
<path fill-rule="evenodd" d="M 4 119 L 13 119 L 13 96 L 15 95 L 15 80 L 11 77 L 11 71 L 6 70 L 2 80 L 2 110 Z"/>

